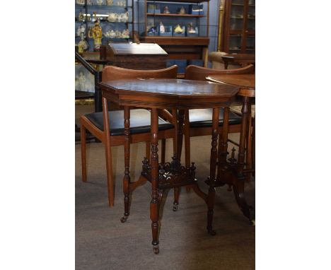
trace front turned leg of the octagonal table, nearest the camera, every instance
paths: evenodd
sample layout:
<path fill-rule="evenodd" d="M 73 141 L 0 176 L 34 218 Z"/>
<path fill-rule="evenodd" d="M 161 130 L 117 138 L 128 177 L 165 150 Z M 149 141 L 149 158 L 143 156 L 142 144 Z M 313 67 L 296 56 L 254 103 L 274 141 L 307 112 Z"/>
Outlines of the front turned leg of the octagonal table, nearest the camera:
<path fill-rule="evenodd" d="M 151 229 L 153 236 L 153 252 L 158 254 L 158 111 L 151 109 Z"/>

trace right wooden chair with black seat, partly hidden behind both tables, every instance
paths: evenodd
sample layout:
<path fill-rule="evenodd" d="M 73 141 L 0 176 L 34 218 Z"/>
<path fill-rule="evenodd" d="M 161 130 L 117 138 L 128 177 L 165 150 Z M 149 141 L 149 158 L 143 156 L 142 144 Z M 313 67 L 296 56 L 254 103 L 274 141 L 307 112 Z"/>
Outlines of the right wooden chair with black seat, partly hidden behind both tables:
<path fill-rule="evenodd" d="M 208 69 L 201 66 L 190 65 L 187 66 L 185 71 L 185 79 L 195 81 L 207 81 L 206 77 L 213 74 L 254 74 L 255 66 L 250 64 L 240 69 Z M 224 111 L 228 113 L 228 133 L 240 132 L 241 117 L 238 113 L 234 113 L 231 110 Z M 212 109 L 195 109 L 190 112 L 185 112 L 184 122 L 184 136 L 185 136 L 185 163 L 190 164 L 190 137 L 192 136 L 205 136 L 211 134 L 212 125 Z M 219 115 L 219 127 L 223 126 L 223 110 Z M 219 130 L 221 132 L 221 129 Z M 190 134 L 190 135 L 187 135 Z M 221 141 L 220 141 L 221 142 Z M 233 141 L 231 141 L 234 144 Z M 252 163 L 251 157 L 251 143 L 248 141 L 248 166 Z M 220 149 L 221 147 L 219 147 Z"/>

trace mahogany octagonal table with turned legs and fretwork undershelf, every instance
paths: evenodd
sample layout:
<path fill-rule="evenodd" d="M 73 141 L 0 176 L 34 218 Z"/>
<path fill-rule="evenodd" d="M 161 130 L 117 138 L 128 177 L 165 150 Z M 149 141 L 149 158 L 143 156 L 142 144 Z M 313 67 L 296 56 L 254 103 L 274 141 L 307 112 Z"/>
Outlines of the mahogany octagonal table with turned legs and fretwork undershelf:
<path fill-rule="evenodd" d="M 105 81 L 99 83 L 103 93 L 103 117 L 104 122 L 108 123 L 108 100 L 124 106 L 124 216 L 121 219 L 125 222 L 129 216 L 129 189 L 134 189 L 141 182 L 148 180 L 151 182 L 151 203 L 150 217 L 153 236 L 153 252 L 158 253 L 158 218 L 159 207 L 161 204 L 164 189 L 177 188 L 182 186 L 192 187 L 207 204 L 208 221 L 207 230 L 214 235 L 211 221 L 214 208 L 215 189 L 211 184 L 209 194 L 204 194 L 195 179 L 194 163 L 189 167 L 180 164 L 177 153 L 179 142 L 179 127 L 176 132 L 175 140 L 177 146 L 170 163 L 158 164 L 158 109 L 178 110 L 182 112 L 189 109 L 213 108 L 213 122 L 211 134 L 211 163 L 209 181 L 215 181 L 217 155 L 217 137 L 219 129 L 219 110 L 220 107 L 229 107 L 234 100 L 239 88 L 236 86 L 222 85 L 208 81 L 190 81 L 180 79 L 134 79 Z M 130 107 L 145 107 L 151 109 L 151 161 L 143 161 L 142 172 L 139 180 L 130 182 L 129 176 L 129 118 Z M 180 117 L 178 117 L 180 118 Z M 182 125 L 175 117 L 175 123 Z M 105 127 L 107 129 L 107 127 Z"/>

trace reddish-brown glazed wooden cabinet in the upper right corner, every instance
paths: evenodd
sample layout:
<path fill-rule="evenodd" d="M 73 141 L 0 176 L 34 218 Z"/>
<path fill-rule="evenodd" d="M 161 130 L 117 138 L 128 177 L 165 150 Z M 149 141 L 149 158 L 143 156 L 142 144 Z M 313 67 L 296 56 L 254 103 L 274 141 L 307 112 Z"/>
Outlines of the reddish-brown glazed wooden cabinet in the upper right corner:
<path fill-rule="evenodd" d="M 221 50 L 255 54 L 255 0 L 225 0 Z"/>

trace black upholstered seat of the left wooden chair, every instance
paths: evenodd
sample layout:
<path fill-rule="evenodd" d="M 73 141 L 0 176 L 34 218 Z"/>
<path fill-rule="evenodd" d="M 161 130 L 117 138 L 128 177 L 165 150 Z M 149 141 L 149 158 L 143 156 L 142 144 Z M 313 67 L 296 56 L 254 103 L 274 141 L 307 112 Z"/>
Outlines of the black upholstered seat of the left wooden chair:
<path fill-rule="evenodd" d="M 124 135 L 124 110 L 108 112 L 110 136 Z M 103 112 L 85 115 L 95 127 L 103 131 Z M 172 129 L 173 125 L 158 117 L 158 130 Z M 130 110 L 130 134 L 151 132 L 151 112 L 144 109 Z"/>

